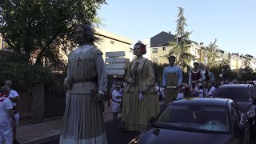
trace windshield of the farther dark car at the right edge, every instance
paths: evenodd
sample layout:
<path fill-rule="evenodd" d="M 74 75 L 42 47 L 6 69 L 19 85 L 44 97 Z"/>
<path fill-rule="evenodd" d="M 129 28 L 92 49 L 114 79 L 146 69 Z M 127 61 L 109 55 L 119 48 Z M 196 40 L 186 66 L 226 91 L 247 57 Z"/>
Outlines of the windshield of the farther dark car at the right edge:
<path fill-rule="evenodd" d="M 214 98 L 230 98 L 237 102 L 251 102 L 250 91 L 247 89 L 217 89 Z"/>

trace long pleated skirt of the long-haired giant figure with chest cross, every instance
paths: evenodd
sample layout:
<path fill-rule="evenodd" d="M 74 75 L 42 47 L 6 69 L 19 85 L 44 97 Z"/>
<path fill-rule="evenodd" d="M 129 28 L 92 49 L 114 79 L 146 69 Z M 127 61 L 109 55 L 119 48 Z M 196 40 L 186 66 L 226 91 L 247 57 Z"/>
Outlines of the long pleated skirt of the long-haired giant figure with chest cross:
<path fill-rule="evenodd" d="M 102 106 L 90 94 L 67 94 L 60 144 L 106 144 Z"/>

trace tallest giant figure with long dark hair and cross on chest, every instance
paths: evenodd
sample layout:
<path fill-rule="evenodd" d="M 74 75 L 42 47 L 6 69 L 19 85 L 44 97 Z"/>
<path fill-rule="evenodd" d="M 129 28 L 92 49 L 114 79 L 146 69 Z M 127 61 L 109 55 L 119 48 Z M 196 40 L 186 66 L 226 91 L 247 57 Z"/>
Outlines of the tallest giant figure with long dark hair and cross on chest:
<path fill-rule="evenodd" d="M 102 115 L 106 92 L 106 70 L 102 51 L 94 46 L 94 30 L 90 25 L 79 25 L 75 31 L 78 48 L 68 57 L 68 89 L 63 119 L 61 144 L 106 144 Z"/>

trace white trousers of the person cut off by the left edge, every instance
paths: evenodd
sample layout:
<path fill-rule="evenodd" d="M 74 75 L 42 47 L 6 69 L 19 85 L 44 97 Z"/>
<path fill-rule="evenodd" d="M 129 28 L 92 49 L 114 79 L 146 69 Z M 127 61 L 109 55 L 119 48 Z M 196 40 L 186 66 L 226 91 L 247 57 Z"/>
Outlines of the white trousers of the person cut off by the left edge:
<path fill-rule="evenodd" d="M 6 142 L 5 144 L 13 143 L 13 126 L 11 122 L 0 122 L 0 144 Z"/>

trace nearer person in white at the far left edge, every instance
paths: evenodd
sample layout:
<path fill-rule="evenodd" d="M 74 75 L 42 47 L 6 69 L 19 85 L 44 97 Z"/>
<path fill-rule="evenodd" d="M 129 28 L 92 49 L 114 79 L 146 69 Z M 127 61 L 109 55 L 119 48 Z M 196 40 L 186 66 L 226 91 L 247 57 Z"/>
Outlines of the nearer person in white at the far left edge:
<path fill-rule="evenodd" d="M 7 94 L 10 92 L 8 86 L 2 86 L 0 94 L 0 143 L 13 144 L 13 126 L 15 118 L 13 106 Z"/>

